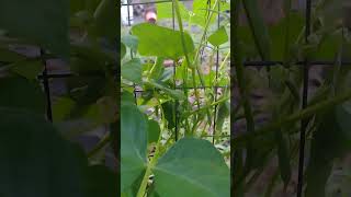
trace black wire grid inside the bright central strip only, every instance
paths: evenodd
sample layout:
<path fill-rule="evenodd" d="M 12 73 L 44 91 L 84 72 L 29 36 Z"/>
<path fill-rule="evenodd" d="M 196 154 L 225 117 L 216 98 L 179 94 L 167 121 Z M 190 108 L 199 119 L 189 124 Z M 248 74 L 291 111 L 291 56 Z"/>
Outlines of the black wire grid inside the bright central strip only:
<path fill-rule="evenodd" d="M 193 1 L 193 0 L 179 0 L 179 1 Z M 173 1 L 172 0 L 162 0 L 162 1 L 149 1 L 149 2 L 137 2 L 137 3 L 133 3 L 131 2 L 131 0 L 127 0 L 127 3 L 121 3 L 121 8 L 123 7 L 127 7 L 127 26 L 132 26 L 132 19 L 131 19 L 131 13 L 129 13 L 129 7 L 133 7 L 133 5 L 138 5 L 138 4 L 157 4 L 157 3 L 172 3 L 172 28 L 176 30 L 176 10 L 174 10 L 174 5 L 173 5 Z M 219 7 L 220 3 L 218 3 L 218 13 L 217 13 L 217 28 L 220 27 L 220 7 Z M 207 45 L 204 46 L 204 47 L 208 47 Z M 133 57 L 133 54 L 131 51 L 131 56 Z M 219 48 L 218 50 L 216 51 L 216 63 L 215 63 L 215 79 L 217 80 L 218 79 L 218 68 L 219 68 Z M 173 82 L 174 82 L 174 86 L 173 89 L 174 90 L 182 90 L 184 88 L 181 88 L 181 86 L 177 86 L 176 84 L 176 72 L 177 72 L 177 67 L 176 67 L 176 63 L 173 65 Z M 135 96 L 135 100 L 137 100 L 137 93 L 141 93 L 144 92 L 143 90 L 137 90 L 135 85 L 134 86 L 134 96 Z M 205 89 L 213 89 L 214 91 L 214 102 L 216 102 L 218 100 L 217 97 L 217 90 L 220 89 L 220 88 L 227 88 L 227 86 L 220 86 L 220 85 L 217 85 L 217 86 L 188 86 L 185 89 L 188 90 L 195 90 L 197 91 L 199 89 L 202 89 L 202 90 L 205 90 Z M 176 128 L 174 128 L 174 140 L 177 141 L 178 138 L 179 138 L 179 116 L 180 116 L 180 112 L 178 109 L 179 107 L 179 101 L 176 101 L 174 103 L 174 109 L 176 109 Z M 208 135 L 207 137 L 212 137 L 212 142 L 215 143 L 215 131 L 216 131 L 216 115 L 217 115 L 217 111 L 218 111 L 218 105 L 215 105 L 214 106 L 214 118 L 213 118 L 213 134 L 212 135 Z M 228 136 L 219 136 L 219 137 L 225 137 L 227 138 Z"/>

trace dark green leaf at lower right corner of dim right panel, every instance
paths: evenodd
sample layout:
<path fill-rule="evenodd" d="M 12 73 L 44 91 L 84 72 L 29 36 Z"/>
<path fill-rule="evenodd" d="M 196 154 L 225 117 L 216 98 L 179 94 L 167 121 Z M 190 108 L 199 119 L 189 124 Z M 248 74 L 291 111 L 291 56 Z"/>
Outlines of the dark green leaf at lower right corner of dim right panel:
<path fill-rule="evenodd" d="M 319 115 L 307 167 L 306 197 L 326 196 L 325 188 L 335 159 L 351 150 L 351 113 L 348 106 L 339 105 Z"/>

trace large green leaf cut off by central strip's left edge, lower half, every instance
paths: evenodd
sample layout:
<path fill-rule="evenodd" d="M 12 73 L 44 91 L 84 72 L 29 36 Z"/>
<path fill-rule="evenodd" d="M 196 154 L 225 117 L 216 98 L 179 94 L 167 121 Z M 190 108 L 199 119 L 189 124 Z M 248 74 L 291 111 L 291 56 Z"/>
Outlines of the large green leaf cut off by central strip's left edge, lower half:
<path fill-rule="evenodd" d="M 121 106 L 121 190 L 126 192 L 146 170 L 147 119 L 136 105 Z"/>

